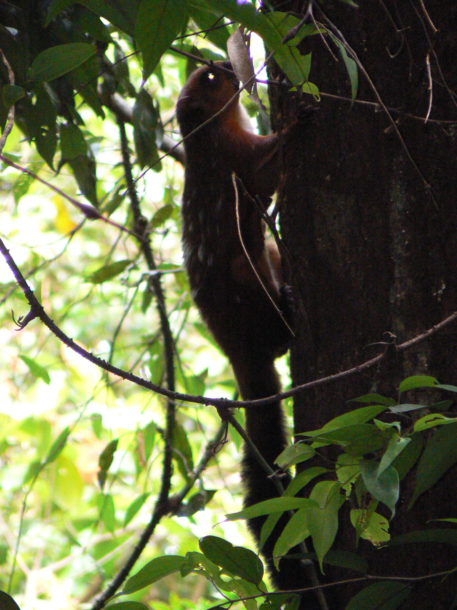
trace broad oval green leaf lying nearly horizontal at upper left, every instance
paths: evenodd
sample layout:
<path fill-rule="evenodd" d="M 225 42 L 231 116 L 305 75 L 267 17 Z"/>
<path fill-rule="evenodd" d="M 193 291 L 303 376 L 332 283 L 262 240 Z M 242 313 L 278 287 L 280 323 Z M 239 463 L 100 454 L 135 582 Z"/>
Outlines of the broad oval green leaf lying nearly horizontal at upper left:
<path fill-rule="evenodd" d="M 95 51 L 93 45 L 83 42 L 44 49 L 35 57 L 30 66 L 30 80 L 35 82 L 54 81 L 92 57 Z"/>

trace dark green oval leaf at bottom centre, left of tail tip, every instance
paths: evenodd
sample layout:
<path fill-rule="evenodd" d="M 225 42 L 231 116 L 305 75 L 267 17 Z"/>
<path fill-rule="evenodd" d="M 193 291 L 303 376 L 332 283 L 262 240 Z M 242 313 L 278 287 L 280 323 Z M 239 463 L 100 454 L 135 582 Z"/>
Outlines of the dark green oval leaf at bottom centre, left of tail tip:
<path fill-rule="evenodd" d="M 244 547 L 234 547 L 218 536 L 199 540 L 200 551 L 214 564 L 248 583 L 259 584 L 263 578 L 263 564 L 257 554 Z"/>

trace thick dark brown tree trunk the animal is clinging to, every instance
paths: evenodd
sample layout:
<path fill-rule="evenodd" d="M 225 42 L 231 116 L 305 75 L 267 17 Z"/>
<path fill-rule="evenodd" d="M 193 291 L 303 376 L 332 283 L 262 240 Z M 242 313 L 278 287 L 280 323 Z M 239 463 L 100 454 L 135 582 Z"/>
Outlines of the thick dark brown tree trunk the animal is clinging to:
<path fill-rule="evenodd" d="M 278 10 L 301 6 L 281 3 Z M 388 339 L 386 333 L 401 343 L 457 310 L 457 124 L 406 116 L 425 117 L 433 93 L 430 119 L 457 120 L 452 93 L 457 89 L 457 5 L 431 0 L 427 13 L 417 0 L 362 2 L 358 9 L 342 2 L 324 6 L 383 103 L 402 111 L 391 115 L 417 167 L 383 110 L 324 96 L 309 137 L 285 151 L 281 223 L 292 253 L 286 264 L 297 300 L 297 339 L 291 350 L 296 385 L 367 361 L 383 351 L 379 342 Z M 316 5 L 314 17 L 328 26 Z M 325 37 L 338 63 L 321 37 L 312 38 L 305 39 L 302 49 L 313 51 L 310 81 L 326 93 L 349 98 L 349 79 L 336 45 Z M 288 123 L 296 112 L 294 94 L 272 88 L 271 98 L 275 126 Z M 361 70 L 357 98 L 378 101 Z M 295 404 L 296 431 L 319 428 L 349 411 L 353 406 L 346 401 L 361 394 L 395 397 L 399 381 L 409 375 L 455 383 L 456 358 L 457 326 L 450 325 L 378 368 L 302 393 Z M 438 390 L 430 396 L 443 400 Z M 420 397 L 423 393 L 414 400 L 409 396 L 408 402 Z M 394 418 L 399 419 L 405 423 L 405 418 Z M 456 517 L 456 477 L 452 468 L 408 511 L 414 487 L 414 473 L 409 473 L 400 488 L 392 537 L 425 529 L 430 519 Z M 355 548 L 349 508 L 336 547 L 364 554 L 370 574 L 376 575 L 422 576 L 450 569 L 457 561 L 455 550 L 444 545 L 375 550 L 361 540 Z M 351 576 L 328 566 L 322 581 Z M 329 607 L 345 608 L 365 586 L 330 587 L 325 591 Z M 401 607 L 447 610 L 455 597 L 455 577 L 421 581 Z"/>

